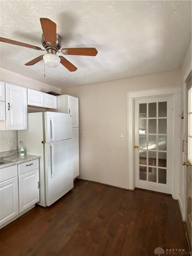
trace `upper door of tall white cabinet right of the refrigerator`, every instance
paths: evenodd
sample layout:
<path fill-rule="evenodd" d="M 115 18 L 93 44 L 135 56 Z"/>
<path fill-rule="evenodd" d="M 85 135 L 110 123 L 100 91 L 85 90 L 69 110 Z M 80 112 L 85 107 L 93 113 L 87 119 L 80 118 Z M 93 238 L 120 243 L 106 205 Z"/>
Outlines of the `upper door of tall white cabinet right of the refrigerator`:
<path fill-rule="evenodd" d="M 67 95 L 68 113 L 72 115 L 72 126 L 79 127 L 79 99 Z"/>

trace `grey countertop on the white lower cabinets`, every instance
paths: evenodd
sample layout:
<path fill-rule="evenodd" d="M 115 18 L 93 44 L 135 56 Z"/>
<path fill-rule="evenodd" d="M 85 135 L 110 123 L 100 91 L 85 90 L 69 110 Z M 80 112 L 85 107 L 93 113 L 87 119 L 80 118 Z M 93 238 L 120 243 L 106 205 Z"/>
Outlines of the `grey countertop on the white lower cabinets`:
<path fill-rule="evenodd" d="M 19 154 L 14 154 L 11 156 L 4 157 L 0 160 L 0 162 L 5 162 L 4 164 L 0 164 L 0 169 L 9 167 L 12 165 L 22 164 L 28 161 L 39 159 L 39 158 L 40 156 L 32 156 L 32 155 L 20 156 Z"/>

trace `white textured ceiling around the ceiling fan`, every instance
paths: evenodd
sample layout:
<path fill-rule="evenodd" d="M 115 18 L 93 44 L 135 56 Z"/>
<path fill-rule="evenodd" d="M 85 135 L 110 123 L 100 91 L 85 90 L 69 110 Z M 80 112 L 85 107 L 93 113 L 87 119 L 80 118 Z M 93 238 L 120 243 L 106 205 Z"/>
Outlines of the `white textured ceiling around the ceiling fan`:
<path fill-rule="evenodd" d="M 191 1 L 2 1 L 1 37 L 41 47 L 39 18 L 57 24 L 62 47 L 95 47 L 96 57 L 66 56 L 78 70 L 44 62 L 42 54 L 0 44 L 1 67 L 67 87 L 181 68 L 191 39 Z"/>

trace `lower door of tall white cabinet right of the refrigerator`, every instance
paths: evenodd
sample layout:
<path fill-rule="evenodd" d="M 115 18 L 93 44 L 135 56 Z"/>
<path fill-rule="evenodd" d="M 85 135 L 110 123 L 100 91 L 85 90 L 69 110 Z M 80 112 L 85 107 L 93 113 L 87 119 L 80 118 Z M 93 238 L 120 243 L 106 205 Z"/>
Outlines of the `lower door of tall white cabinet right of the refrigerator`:
<path fill-rule="evenodd" d="M 73 128 L 73 178 L 79 176 L 79 128 Z"/>

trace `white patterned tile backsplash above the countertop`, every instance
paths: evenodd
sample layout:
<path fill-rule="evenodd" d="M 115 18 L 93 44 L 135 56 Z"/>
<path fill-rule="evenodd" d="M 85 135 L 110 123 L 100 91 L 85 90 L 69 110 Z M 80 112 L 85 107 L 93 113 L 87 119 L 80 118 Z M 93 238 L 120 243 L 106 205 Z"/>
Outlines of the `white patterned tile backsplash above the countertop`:
<path fill-rule="evenodd" d="M 17 131 L 0 131 L 0 152 L 18 149 Z"/>

